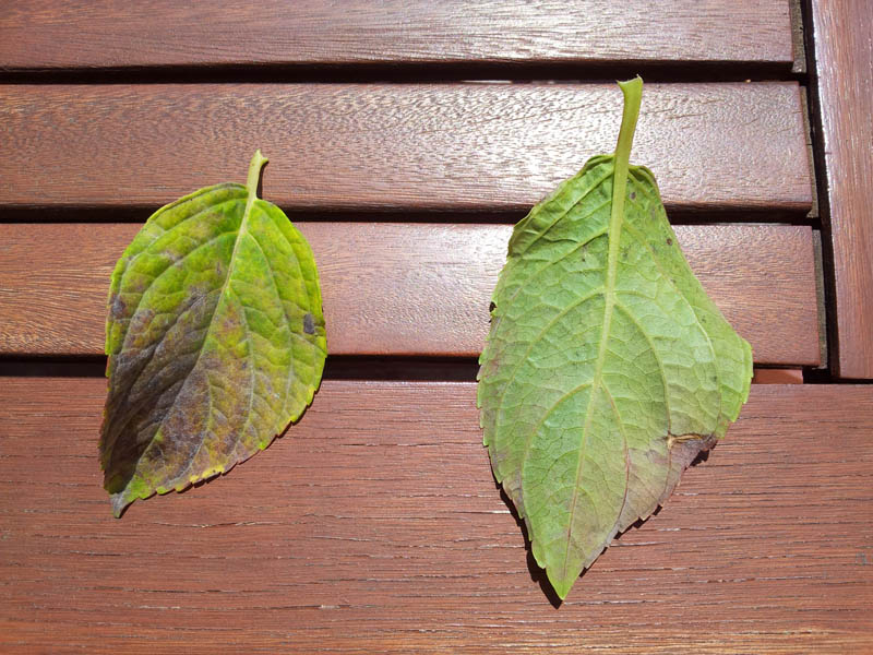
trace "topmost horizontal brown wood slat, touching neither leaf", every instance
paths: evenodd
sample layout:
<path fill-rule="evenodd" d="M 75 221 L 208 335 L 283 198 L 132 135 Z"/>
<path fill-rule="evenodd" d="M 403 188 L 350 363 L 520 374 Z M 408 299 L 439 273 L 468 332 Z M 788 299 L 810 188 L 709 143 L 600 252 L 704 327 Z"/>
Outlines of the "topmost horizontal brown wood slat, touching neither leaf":
<path fill-rule="evenodd" d="M 8 71 L 665 61 L 788 72 L 789 3 L 31 0 L 0 16 L 0 68 Z"/>

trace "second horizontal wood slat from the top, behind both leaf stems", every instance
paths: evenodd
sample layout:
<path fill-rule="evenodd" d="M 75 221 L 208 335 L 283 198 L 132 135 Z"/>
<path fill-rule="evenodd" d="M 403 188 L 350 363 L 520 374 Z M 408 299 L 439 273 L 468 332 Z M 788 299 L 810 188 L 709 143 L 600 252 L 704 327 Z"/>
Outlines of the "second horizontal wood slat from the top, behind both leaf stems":
<path fill-rule="evenodd" d="M 289 210 L 522 213 L 614 148 L 620 95 L 614 84 L 5 85 L 0 205 L 156 209 L 242 179 L 260 147 L 272 157 L 265 196 Z M 634 160 L 671 210 L 810 209 L 796 83 L 647 85 Z"/>

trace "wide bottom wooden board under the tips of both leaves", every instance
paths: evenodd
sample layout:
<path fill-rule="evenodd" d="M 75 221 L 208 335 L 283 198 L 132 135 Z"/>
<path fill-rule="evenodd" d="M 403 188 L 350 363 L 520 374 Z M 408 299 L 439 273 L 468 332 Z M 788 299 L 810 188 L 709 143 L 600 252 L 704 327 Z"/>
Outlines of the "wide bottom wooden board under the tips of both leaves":
<path fill-rule="evenodd" d="M 111 516 L 105 383 L 0 386 L 4 653 L 873 650 L 873 388 L 757 385 L 555 609 L 471 383 L 325 382 L 270 451 Z"/>

